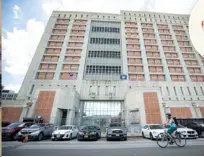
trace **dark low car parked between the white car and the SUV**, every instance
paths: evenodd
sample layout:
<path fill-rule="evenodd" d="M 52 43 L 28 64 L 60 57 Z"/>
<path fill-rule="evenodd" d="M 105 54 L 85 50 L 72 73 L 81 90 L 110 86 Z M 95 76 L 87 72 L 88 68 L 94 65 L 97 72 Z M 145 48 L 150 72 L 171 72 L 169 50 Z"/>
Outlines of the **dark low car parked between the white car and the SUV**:
<path fill-rule="evenodd" d="M 81 140 L 98 140 L 101 138 L 101 129 L 97 126 L 83 126 L 80 128 L 77 139 Z"/>

